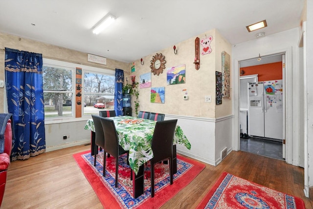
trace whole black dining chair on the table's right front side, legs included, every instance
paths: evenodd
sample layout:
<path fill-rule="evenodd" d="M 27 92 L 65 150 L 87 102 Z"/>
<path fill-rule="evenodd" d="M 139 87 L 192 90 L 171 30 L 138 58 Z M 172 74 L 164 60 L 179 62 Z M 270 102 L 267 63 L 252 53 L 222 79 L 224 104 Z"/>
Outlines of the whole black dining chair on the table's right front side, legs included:
<path fill-rule="evenodd" d="M 151 197 L 155 196 L 155 172 L 156 163 L 169 159 L 170 184 L 173 184 L 173 138 L 177 125 L 177 119 L 156 122 L 155 131 L 152 137 L 151 148 L 154 157 L 150 160 L 151 164 Z"/>

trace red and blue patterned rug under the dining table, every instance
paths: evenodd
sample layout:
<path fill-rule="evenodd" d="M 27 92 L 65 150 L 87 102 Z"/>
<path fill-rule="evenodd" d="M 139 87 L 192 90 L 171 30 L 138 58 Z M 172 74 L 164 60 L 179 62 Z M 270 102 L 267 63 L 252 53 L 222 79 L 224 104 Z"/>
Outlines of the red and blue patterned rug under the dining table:
<path fill-rule="evenodd" d="M 118 188 L 115 188 L 115 158 L 107 158 L 106 177 L 103 172 L 103 151 L 97 155 L 96 167 L 90 151 L 73 155 L 104 208 L 108 209 L 157 209 L 187 186 L 205 167 L 196 161 L 177 156 L 177 173 L 170 185 L 169 166 L 163 163 L 155 166 L 155 196 L 151 198 L 150 164 L 145 166 L 144 193 L 133 198 L 131 168 L 127 165 L 127 155 L 122 155 L 118 168 Z"/>

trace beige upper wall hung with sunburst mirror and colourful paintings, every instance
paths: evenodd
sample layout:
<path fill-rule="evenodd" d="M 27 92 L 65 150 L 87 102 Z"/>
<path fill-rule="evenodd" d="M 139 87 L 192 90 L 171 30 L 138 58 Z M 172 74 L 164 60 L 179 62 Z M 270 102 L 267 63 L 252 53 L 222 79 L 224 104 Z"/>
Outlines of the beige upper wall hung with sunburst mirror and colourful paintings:
<path fill-rule="evenodd" d="M 193 63 L 195 58 L 195 39 L 199 37 L 201 40 L 205 36 L 213 37 L 210 44 L 213 51 L 210 54 L 200 55 L 200 69 L 196 70 Z M 156 52 L 165 56 L 166 68 L 158 76 L 151 74 L 152 87 L 165 86 L 165 103 L 151 103 L 150 88 L 141 88 L 139 89 L 139 110 L 204 118 L 230 115 L 232 112 L 230 99 L 223 98 L 223 104 L 215 105 L 215 71 L 222 71 L 222 51 L 226 51 L 231 55 L 230 43 L 224 40 L 220 33 L 214 29 L 175 45 L 178 50 L 177 54 L 174 54 L 173 46 Z M 139 76 L 141 74 L 151 71 L 150 61 L 156 53 L 143 57 L 143 65 L 140 64 L 140 60 L 135 61 L 135 72 L 130 75 L 135 75 L 137 82 L 140 81 Z M 181 64 L 186 65 L 186 83 L 167 85 L 166 69 Z M 131 79 L 128 78 L 128 81 L 131 81 Z M 188 100 L 183 100 L 184 92 L 182 89 L 187 89 Z M 211 103 L 204 102 L 204 96 L 207 95 L 211 96 Z"/>

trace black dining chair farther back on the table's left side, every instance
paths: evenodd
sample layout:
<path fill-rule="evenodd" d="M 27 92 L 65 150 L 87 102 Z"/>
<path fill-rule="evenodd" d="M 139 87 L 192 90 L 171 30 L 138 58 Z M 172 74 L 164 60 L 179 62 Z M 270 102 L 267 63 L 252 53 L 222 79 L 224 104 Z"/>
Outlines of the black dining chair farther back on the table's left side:
<path fill-rule="evenodd" d="M 99 115 L 91 115 L 92 120 L 93 120 L 93 124 L 94 124 L 94 133 L 95 133 L 95 142 L 94 142 L 94 163 L 93 165 L 96 166 L 96 158 L 97 158 L 97 151 L 98 151 L 98 146 L 100 146 L 100 148 L 104 149 L 104 134 L 103 134 L 103 128 L 101 125 L 101 121 L 100 118 L 102 118 Z M 108 157 L 110 157 L 110 155 L 108 154 Z M 104 156 L 103 156 L 104 159 Z M 103 164 L 103 167 L 105 165 Z M 103 173 L 104 175 L 104 173 Z"/>

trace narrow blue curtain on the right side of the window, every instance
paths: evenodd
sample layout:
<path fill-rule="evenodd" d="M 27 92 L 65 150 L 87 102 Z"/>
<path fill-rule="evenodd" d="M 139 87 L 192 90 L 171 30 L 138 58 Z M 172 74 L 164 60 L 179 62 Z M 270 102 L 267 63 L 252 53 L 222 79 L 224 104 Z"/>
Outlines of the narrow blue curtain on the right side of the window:
<path fill-rule="evenodd" d="M 123 115 L 124 71 L 115 69 L 114 110 L 116 115 Z"/>

